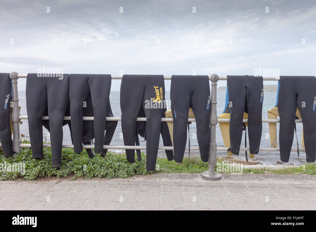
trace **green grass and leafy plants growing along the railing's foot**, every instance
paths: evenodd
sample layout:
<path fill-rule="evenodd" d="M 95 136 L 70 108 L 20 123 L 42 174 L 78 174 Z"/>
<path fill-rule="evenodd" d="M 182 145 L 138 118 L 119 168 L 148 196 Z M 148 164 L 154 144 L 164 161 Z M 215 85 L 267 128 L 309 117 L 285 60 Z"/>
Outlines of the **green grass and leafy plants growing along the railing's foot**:
<path fill-rule="evenodd" d="M 29 143 L 23 141 L 23 143 Z M 34 180 L 40 177 L 68 177 L 76 178 L 128 178 L 133 175 L 150 175 L 154 173 L 202 173 L 208 170 L 208 163 L 202 162 L 199 157 L 185 157 L 181 164 L 168 161 L 165 158 L 157 158 L 157 170 L 146 170 L 146 155 L 142 153 L 142 161 L 130 164 L 126 160 L 125 154 L 116 154 L 108 152 L 106 158 L 99 154 L 90 159 L 84 150 L 81 154 L 74 153 L 73 149 L 62 149 L 62 164 L 59 168 L 52 167 L 52 154 L 50 148 L 44 148 L 43 159 L 33 159 L 30 148 L 22 148 L 20 154 L 14 158 L 5 158 L 0 147 L 0 180 L 23 178 Z M 225 162 L 218 158 L 218 162 Z M 3 165 L 12 163 L 21 163 L 25 165 L 25 173 L 21 171 L 3 171 Z M 243 169 L 243 174 L 307 174 L 316 175 L 316 164 L 304 164 L 294 168 L 283 168 L 279 170 L 270 169 Z M 230 172 L 221 172 L 230 173 Z"/>

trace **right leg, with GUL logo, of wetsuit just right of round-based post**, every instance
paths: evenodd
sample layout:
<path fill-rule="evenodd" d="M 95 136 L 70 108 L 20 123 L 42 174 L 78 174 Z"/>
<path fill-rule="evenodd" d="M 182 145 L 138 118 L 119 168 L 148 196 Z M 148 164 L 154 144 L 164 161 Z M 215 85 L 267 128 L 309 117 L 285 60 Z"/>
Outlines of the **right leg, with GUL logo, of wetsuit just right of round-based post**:
<path fill-rule="evenodd" d="M 251 77 L 247 85 L 249 152 L 258 154 L 262 135 L 263 78 Z"/>

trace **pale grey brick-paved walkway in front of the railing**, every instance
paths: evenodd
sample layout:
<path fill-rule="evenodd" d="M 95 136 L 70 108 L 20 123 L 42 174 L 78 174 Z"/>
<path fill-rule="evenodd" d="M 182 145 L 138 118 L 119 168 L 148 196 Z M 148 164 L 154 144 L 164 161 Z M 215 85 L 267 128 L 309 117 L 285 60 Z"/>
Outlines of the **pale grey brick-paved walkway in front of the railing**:
<path fill-rule="evenodd" d="M 316 210 L 316 176 L 156 174 L 0 181 L 2 210 Z"/>

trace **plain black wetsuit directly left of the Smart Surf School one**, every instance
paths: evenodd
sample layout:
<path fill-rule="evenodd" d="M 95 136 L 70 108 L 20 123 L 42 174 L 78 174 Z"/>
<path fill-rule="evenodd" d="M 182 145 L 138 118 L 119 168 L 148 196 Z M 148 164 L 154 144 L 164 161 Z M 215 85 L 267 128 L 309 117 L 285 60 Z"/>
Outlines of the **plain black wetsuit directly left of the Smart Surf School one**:
<path fill-rule="evenodd" d="M 95 138 L 94 152 L 102 153 L 104 157 L 107 149 L 103 145 L 109 145 L 117 121 L 106 122 L 106 117 L 112 117 L 109 100 L 111 89 L 111 75 L 105 74 L 70 74 L 69 99 L 71 130 L 75 153 L 82 152 L 82 142 L 91 144 Z M 94 116 L 94 121 L 83 121 L 83 116 Z M 106 134 L 104 135 L 104 131 Z M 90 158 L 91 150 L 87 150 Z"/>

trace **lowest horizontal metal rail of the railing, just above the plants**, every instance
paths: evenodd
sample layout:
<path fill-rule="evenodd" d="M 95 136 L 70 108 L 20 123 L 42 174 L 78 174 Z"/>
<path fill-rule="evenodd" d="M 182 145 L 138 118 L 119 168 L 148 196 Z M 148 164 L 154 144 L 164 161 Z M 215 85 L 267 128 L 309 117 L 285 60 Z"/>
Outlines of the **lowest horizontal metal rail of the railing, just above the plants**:
<path fill-rule="evenodd" d="M 0 144 L 1 145 L 1 144 Z M 31 144 L 29 143 L 21 143 L 20 147 L 31 147 Z M 50 148 L 50 144 L 43 144 L 43 147 Z M 63 148 L 74 148 L 74 145 L 72 144 L 63 144 Z M 94 149 L 94 145 L 82 145 L 83 148 L 86 149 Z M 217 147 L 216 151 L 226 151 L 228 150 L 229 147 Z M 120 145 L 104 145 L 103 149 L 140 149 L 140 150 L 146 150 L 146 146 L 120 146 Z M 159 146 L 158 150 L 173 150 L 173 146 Z M 189 147 L 186 146 L 185 150 L 189 150 Z M 191 146 L 190 147 L 191 151 L 199 151 L 198 146 Z M 248 151 L 249 152 L 249 147 L 240 147 L 240 151 Z M 259 151 L 262 152 L 279 152 L 280 148 L 278 147 L 260 147 Z M 300 148 L 301 152 L 305 152 L 305 148 Z M 297 148 L 293 147 L 291 148 L 291 152 L 297 152 Z"/>

